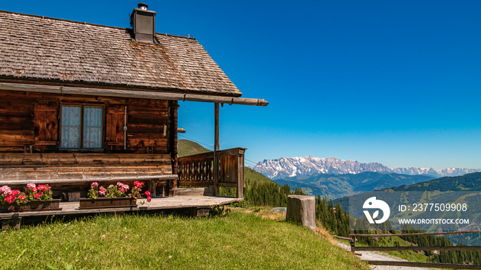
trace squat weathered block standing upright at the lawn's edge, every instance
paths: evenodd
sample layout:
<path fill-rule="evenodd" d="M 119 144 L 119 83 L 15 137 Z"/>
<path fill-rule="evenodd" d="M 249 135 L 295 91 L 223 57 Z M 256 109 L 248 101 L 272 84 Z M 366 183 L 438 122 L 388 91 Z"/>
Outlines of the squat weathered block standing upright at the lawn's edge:
<path fill-rule="evenodd" d="M 294 221 L 315 230 L 315 197 L 289 195 L 287 197 L 286 221 Z"/>

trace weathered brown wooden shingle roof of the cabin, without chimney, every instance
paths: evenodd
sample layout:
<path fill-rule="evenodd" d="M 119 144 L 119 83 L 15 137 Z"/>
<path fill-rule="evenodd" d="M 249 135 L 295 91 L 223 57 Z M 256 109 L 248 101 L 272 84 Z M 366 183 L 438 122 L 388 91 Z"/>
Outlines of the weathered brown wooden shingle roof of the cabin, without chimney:
<path fill-rule="evenodd" d="M 80 86 L 242 95 L 193 38 L 0 11 L 0 79 Z"/>

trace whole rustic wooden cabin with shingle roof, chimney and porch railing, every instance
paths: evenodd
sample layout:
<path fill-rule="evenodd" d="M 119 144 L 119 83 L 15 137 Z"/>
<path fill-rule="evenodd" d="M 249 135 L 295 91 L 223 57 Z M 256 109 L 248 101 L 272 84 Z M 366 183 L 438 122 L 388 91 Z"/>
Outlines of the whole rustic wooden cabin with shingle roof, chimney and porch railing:
<path fill-rule="evenodd" d="M 156 33 L 146 5 L 131 25 L 0 11 L 0 186 L 49 184 L 72 200 L 93 181 L 141 180 L 157 197 L 178 186 L 242 197 L 245 149 L 219 149 L 219 103 L 267 101 L 240 97 L 194 38 Z M 214 152 L 179 161 L 179 100 L 214 103 Z"/>

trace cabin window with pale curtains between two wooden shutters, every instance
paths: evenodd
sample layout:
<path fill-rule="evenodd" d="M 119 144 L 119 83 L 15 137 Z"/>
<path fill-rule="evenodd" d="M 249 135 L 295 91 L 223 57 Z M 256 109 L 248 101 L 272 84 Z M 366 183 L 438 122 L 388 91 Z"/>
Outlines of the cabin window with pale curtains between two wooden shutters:
<path fill-rule="evenodd" d="M 63 105 L 60 148 L 102 149 L 101 106 Z"/>

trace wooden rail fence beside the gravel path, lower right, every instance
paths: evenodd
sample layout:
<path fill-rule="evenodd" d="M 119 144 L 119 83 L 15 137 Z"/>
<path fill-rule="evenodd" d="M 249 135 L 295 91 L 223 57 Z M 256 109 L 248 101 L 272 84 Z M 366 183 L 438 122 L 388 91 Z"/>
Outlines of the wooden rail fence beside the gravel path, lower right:
<path fill-rule="evenodd" d="M 343 237 L 344 239 L 350 240 L 350 251 L 353 254 L 358 255 L 356 251 L 397 251 L 397 250 L 445 250 L 445 251 L 466 251 L 466 250 L 480 250 L 481 247 L 453 247 L 453 246 L 442 246 L 442 247 L 357 247 L 357 237 L 392 237 L 392 236 L 423 236 L 423 235 L 440 235 L 440 234 L 471 234 L 481 232 L 481 230 L 474 231 L 462 231 L 462 232 L 421 232 L 412 234 L 355 234 L 354 230 L 351 230 L 350 238 Z M 364 260 L 368 262 L 369 265 L 392 265 L 399 267 L 436 267 L 436 268 L 449 268 L 449 269 L 481 269 L 481 265 L 454 265 L 449 263 L 434 263 L 434 262 L 399 262 L 391 260 Z"/>

